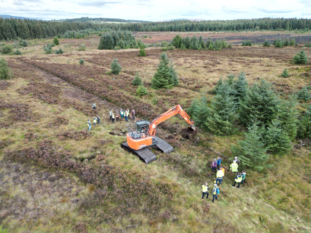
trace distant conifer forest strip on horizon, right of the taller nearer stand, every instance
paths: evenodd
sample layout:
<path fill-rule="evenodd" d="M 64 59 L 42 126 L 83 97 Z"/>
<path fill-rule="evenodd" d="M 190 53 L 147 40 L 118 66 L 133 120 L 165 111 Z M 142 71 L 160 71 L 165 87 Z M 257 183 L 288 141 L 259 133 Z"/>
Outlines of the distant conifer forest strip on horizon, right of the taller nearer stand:
<path fill-rule="evenodd" d="M 311 29 L 311 19 L 261 18 L 209 20 L 200 22 L 175 20 L 170 22 L 149 22 L 141 24 L 106 24 L 106 27 L 114 30 L 129 31 L 241 31 L 260 29 L 294 30 Z"/>

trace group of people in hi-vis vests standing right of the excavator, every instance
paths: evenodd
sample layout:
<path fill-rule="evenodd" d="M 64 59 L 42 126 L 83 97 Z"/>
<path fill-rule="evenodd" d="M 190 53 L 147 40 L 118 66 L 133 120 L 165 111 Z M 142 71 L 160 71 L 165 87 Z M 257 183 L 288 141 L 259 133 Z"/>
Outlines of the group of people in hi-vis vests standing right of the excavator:
<path fill-rule="evenodd" d="M 232 185 L 233 187 L 235 187 L 236 184 L 238 184 L 238 188 L 240 187 L 240 184 L 244 184 L 244 179 L 246 177 L 246 172 L 245 170 L 243 170 L 242 172 L 239 172 L 239 165 L 241 164 L 240 160 L 237 157 L 234 157 L 233 163 L 230 165 L 230 170 L 232 172 L 235 172 L 236 177 L 234 179 L 234 184 Z M 220 193 L 219 187 L 218 185 L 221 184 L 221 182 L 223 182 L 223 177 L 225 177 L 225 168 L 223 168 L 223 166 L 221 166 L 221 157 L 218 156 L 217 160 L 214 159 L 212 161 L 212 172 L 216 172 L 216 181 L 214 181 L 214 188 L 212 190 L 212 194 L 213 194 L 213 200 L 212 202 L 214 202 L 214 200 L 217 200 L 217 195 Z M 209 187 L 207 186 L 207 182 L 205 182 L 205 184 L 202 185 L 202 199 L 204 199 L 205 195 L 206 195 L 206 199 L 209 197 Z"/>

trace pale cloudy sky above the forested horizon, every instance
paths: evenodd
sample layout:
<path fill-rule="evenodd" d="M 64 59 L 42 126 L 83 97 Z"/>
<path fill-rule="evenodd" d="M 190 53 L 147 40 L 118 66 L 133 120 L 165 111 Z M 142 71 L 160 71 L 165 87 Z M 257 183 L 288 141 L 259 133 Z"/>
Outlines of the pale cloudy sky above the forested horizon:
<path fill-rule="evenodd" d="M 0 0 L 0 15 L 40 19 L 107 17 L 166 19 L 311 18 L 311 0 Z"/>

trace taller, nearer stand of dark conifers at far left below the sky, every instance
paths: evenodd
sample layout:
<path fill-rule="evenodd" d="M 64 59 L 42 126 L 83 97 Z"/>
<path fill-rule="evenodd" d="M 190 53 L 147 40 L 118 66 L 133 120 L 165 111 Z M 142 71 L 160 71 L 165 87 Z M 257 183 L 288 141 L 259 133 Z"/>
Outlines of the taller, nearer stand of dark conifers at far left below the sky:
<path fill-rule="evenodd" d="M 0 40 L 52 38 L 67 31 L 102 30 L 100 24 L 0 18 Z"/>

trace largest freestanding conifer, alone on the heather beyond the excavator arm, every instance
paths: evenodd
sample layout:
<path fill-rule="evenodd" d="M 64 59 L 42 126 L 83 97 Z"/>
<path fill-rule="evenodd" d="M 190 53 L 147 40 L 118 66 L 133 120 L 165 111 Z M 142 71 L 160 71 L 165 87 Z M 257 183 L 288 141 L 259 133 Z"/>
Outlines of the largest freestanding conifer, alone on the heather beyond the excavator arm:
<path fill-rule="evenodd" d="M 177 86 L 179 83 L 177 72 L 173 63 L 170 61 L 166 53 L 160 55 L 160 63 L 157 67 L 157 72 L 151 81 L 151 86 L 154 89 L 169 89 Z"/>

